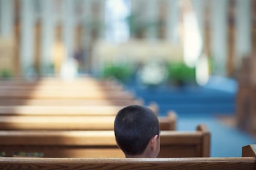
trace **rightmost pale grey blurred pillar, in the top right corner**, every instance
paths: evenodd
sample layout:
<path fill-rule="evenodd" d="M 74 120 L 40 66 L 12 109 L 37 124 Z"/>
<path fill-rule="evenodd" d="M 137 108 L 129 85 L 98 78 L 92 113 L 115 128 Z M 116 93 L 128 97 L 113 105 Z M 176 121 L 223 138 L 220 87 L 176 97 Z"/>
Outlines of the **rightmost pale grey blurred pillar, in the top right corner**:
<path fill-rule="evenodd" d="M 252 53 L 252 1 L 236 1 L 236 41 L 235 59 L 236 69 L 241 67 L 242 57 Z"/>

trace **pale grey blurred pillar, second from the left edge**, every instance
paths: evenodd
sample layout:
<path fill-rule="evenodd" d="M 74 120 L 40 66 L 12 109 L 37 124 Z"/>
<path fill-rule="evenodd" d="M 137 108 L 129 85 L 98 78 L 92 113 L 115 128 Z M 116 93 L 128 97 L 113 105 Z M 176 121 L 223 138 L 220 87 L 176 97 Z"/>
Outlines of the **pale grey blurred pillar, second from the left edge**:
<path fill-rule="evenodd" d="M 20 68 L 22 74 L 32 77 L 35 74 L 34 68 L 34 22 L 33 0 L 20 1 Z"/>

